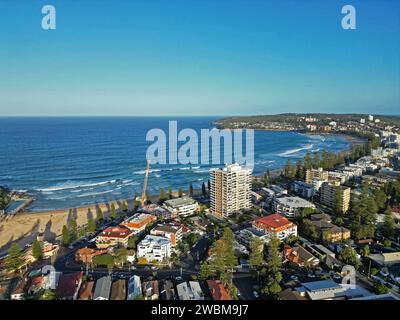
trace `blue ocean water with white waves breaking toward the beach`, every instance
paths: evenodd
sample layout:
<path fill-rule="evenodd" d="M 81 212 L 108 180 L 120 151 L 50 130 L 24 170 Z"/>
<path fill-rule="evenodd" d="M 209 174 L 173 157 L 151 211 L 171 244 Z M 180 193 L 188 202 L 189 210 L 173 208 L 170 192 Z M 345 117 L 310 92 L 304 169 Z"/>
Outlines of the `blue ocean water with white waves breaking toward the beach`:
<path fill-rule="evenodd" d="M 153 128 L 168 132 L 169 120 L 177 120 L 178 129 L 199 132 L 212 128 L 216 118 L 0 118 L 0 185 L 33 196 L 32 211 L 132 198 L 141 192 L 152 144 L 146 133 Z M 280 168 L 307 151 L 347 148 L 349 142 L 340 136 L 257 131 L 254 174 Z M 186 190 L 190 183 L 200 188 L 210 167 L 218 165 L 153 164 L 149 191 Z"/>

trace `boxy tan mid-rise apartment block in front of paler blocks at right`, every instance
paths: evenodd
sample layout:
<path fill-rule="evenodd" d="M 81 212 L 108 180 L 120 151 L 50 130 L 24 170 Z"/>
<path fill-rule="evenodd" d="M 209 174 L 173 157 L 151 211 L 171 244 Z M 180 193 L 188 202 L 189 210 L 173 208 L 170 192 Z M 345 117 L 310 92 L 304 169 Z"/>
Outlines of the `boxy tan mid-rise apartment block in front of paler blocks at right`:
<path fill-rule="evenodd" d="M 349 211 L 351 193 L 349 187 L 341 186 L 338 182 L 325 182 L 322 185 L 320 192 L 320 201 L 323 205 L 326 205 L 340 213 L 346 213 Z"/>

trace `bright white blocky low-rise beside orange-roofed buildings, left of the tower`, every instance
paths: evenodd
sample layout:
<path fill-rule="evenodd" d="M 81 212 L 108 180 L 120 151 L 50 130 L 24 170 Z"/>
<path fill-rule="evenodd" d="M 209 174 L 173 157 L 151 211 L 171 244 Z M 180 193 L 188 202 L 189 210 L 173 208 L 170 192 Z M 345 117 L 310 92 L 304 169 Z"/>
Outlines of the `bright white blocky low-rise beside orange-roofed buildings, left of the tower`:
<path fill-rule="evenodd" d="M 168 238 L 147 235 L 137 245 L 137 259 L 144 258 L 147 262 L 162 262 L 171 255 L 171 241 Z"/>

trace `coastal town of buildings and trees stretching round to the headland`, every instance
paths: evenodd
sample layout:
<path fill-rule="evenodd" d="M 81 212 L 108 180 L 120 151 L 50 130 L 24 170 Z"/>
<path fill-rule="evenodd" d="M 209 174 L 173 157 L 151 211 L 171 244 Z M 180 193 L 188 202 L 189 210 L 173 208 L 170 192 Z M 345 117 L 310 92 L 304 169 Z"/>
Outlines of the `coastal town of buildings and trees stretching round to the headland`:
<path fill-rule="evenodd" d="M 149 195 L 145 175 L 140 197 L 98 206 L 84 224 L 71 214 L 51 239 L 13 242 L 0 258 L 0 299 L 400 299 L 400 118 L 283 114 L 216 125 L 358 142 L 261 176 L 227 164 L 200 190 Z M 0 191 L 1 219 L 31 201 Z"/>

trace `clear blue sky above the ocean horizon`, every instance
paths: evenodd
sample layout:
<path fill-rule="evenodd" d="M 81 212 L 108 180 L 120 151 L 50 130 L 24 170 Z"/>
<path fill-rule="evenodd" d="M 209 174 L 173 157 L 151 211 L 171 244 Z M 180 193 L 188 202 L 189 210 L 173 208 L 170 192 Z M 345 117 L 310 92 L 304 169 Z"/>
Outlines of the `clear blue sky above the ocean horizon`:
<path fill-rule="evenodd" d="M 399 40 L 397 0 L 0 0 L 0 116 L 400 114 Z"/>

